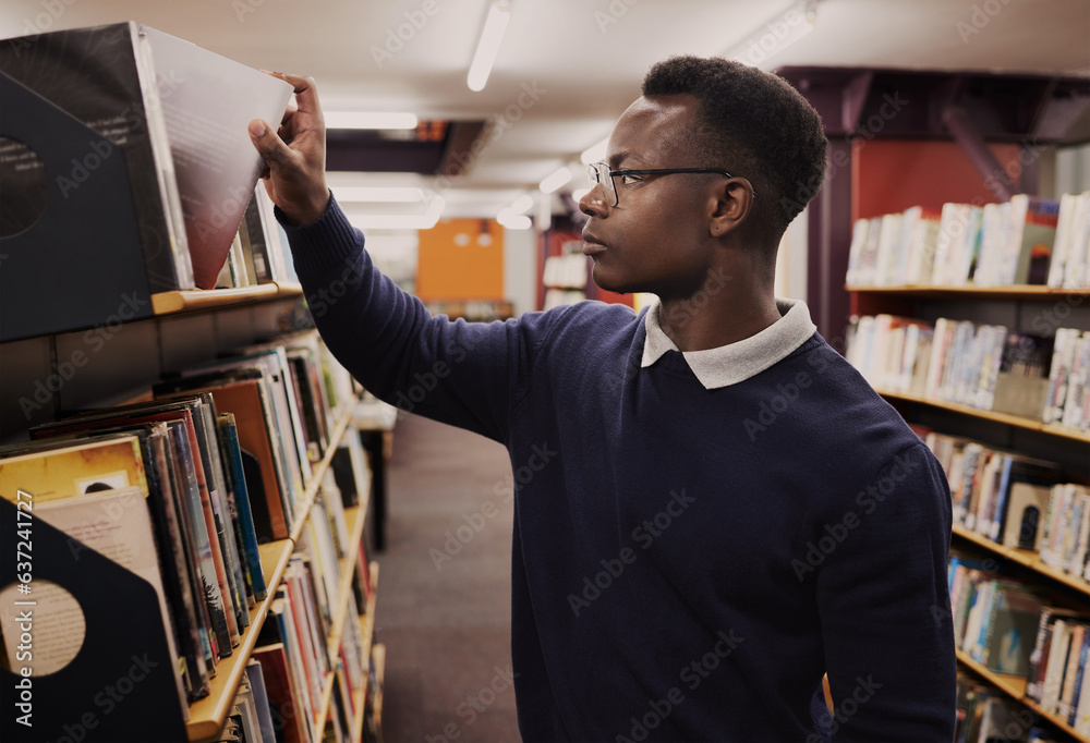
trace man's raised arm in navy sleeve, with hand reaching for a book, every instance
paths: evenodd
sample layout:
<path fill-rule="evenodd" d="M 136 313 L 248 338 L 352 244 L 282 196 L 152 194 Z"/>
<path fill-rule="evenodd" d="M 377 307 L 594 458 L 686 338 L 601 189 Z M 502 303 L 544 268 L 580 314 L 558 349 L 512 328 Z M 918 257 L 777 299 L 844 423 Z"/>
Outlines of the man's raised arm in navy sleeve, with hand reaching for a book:
<path fill-rule="evenodd" d="M 267 165 L 265 187 L 291 243 L 318 331 L 371 392 L 402 410 L 505 440 L 508 411 L 530 366 L 541 315 L 518 321 L 433 317 L 383 276 L 325 182 L 325 125 L 314 81 L 272 73 L 295 87 L 298 108 L 274 132 L 250 124 Z"/>

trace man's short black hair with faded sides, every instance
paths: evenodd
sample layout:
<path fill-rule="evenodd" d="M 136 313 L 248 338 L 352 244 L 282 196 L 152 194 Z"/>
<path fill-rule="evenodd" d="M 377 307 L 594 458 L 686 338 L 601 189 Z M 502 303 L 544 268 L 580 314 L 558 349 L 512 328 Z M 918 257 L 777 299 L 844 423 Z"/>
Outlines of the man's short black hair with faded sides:
<path fill-rule="evenodd" d="M 693 146 L 707 161 L 753 184 L 783 231 L 821 188 L 825 138 L 821 117 L 784 78 L 717 57 L 671 57 L 651 68 L 643 95 L 691 95 L 700 101 Z M 681 167 L 681 166 L 676 166 Z"/>

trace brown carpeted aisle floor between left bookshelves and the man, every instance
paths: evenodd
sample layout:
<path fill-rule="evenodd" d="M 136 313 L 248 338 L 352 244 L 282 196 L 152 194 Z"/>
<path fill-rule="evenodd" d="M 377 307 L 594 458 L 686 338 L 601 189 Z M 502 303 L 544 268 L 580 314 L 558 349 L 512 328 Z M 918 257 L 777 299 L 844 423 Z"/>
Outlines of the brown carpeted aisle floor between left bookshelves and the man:
<path fill-rule="evenodd" d="M 507 452 L 400 413 L 388 473 L 385 743 L 517 741 Z"/>

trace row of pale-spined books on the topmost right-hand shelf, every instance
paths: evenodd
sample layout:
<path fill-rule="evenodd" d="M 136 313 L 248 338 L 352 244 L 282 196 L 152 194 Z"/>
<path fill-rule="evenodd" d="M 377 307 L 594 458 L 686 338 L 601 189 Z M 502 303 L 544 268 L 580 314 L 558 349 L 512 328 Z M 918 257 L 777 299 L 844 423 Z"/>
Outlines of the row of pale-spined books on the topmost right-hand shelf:
<path fill-rule="evenodd" d="M 856 220 L 851 287 L 1090 287 L 1090 192 L 944 204 Z"/>

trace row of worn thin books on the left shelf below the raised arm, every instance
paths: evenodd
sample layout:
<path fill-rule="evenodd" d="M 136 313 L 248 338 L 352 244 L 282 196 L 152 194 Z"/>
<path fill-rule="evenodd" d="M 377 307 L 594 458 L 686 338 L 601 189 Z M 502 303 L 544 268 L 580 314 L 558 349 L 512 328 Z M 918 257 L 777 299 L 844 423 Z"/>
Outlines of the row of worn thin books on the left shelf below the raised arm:
<path fill-rule="evenodd" d="M 155 587 L 183 718 L 268 596 L 259 545 L 301 535 L 301 564 L 280 589 L 313 597 L 311 616 L 327 629 L 348 547 L 343 503 L 331 473 L 310 512 L 304 487 L 332 446 L 335 412 L 352 401 L 337 389 L 347 370 L 323 349 L 315 331 L 243 349 L 161 380 L 140 402 L 62 415 L 0 449 L 5 498 L 31 494 L 35 519 L 66 533 L 73 550 L 93 548 Z M 35 638 L 63 648 L 63 618 L 77 624 L 81 609 L 56 593 L 37 596 L 57 621 Z M 17 642 L 4 633 L 9 668 Z"/>

